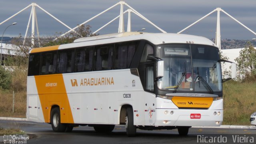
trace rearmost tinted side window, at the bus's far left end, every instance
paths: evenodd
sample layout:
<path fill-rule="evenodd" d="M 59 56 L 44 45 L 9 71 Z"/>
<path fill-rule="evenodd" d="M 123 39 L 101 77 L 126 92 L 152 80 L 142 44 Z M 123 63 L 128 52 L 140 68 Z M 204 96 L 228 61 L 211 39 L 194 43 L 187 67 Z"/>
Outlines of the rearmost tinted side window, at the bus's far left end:
<path fill-rule="evenodd" d="M 41 54 L 30 54 L 28 62 L 28 76 L 39 75 Z"/>

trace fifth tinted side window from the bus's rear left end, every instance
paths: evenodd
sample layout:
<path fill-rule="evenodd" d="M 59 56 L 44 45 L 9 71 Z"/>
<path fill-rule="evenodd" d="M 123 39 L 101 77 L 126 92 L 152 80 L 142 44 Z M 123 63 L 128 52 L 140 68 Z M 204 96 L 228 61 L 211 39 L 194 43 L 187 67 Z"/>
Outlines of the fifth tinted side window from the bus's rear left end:
<path fill-rule="evenodd" d="M 100 46 L 95 48 L 94 70 L 111 70 L 113 65 L 114 46 Z"/>

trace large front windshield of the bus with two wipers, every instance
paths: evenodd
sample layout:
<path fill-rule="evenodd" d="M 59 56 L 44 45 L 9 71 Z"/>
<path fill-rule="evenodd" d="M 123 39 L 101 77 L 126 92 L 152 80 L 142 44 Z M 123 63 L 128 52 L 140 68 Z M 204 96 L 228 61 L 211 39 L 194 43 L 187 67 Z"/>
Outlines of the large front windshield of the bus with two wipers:
<path fill-rule="evenodd" d="M 164 60 L 164 77 L 157 82 L 159 89 L 207 93 L 222 90 L 218 48 L 165 44 L 158 46 L 157 57 Z"/>

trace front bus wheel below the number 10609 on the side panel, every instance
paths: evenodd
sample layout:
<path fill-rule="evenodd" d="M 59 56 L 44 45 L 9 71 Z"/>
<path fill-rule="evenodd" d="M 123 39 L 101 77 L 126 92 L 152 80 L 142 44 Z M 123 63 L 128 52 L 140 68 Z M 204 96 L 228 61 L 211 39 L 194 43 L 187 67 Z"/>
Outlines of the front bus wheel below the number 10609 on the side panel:
<path fill-rule="evenodd" d="M 132 108 L 128 107 L 126 109 L 126 134 L 128 137 L 132 137 L 136 135 L 136 126 L 134 126 L 133 122 L 133 110 Z"/>

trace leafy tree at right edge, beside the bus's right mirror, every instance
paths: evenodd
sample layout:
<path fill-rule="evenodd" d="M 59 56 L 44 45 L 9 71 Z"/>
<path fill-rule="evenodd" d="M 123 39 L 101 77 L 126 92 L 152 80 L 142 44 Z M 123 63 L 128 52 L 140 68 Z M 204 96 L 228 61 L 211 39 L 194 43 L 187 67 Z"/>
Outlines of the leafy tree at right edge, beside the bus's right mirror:
<path fill-rule="evenodd" d="M 246 43 L 240 51 L 239 57 L 235 59 L 242 79 L 256 75 L 256 50 L 250 42 Z"/>

